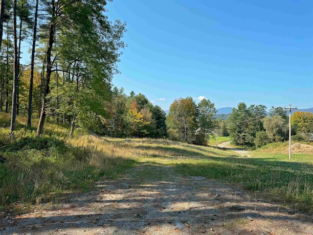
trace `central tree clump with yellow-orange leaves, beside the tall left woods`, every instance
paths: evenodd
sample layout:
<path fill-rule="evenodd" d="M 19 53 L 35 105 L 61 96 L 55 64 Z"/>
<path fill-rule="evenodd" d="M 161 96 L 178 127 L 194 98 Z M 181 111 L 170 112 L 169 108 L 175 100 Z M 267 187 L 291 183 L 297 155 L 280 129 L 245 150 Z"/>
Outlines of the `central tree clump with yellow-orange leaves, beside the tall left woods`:
<path fill-rule="evenodd" d="M 140 105 L 137 103 L 139 102 Z M 106 102 L 110 118 L 105 120 L 102 134 L 112 137 L 166 137 L 165 112 L 152 105 L 143 94 L 124 94 L 124 89 L 112 90 L 111 102 Z"/>

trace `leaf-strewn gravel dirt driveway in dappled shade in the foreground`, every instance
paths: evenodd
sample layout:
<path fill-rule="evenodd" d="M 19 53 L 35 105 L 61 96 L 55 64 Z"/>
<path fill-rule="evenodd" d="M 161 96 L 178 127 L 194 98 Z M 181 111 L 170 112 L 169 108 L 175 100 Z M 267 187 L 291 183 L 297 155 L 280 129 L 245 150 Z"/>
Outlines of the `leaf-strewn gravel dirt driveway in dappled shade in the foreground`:
<path fill-rule="evenodd" d="M 311 216 L 201 176 L 184 177 L 157 158 L 49 207 L 19 216 L 0 214 L 0 234 L 313 234 Z"/>

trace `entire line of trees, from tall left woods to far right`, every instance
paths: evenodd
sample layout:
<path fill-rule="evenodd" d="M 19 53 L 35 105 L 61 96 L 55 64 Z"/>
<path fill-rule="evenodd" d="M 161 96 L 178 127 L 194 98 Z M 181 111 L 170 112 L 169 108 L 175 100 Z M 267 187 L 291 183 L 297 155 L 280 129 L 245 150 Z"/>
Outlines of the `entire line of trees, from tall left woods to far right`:
<path fill-rule="evenodd" d="M 233 143 L 262 146 L 287 139 L 281 107 L 238 104 L 228 120 L 218 120 L 214 103 L 176 99 L 166 117 L 144 94 L 124 93 L 112 84 L 125 47 L 126 23 L 111 22 L 106 0 L 1 0 L 0 112 L 45 119 L 112 137 L 169 138 L 205 145 L 215 128 Z M 32 45 L 30 64 L 21 64 L 22 42 Z M 221 117 L 220 117 L 221 118 Z M 225 117 L 222 117 L 225 118 Z M 293 138 L 311 140 L 312 114 L 292 116 Z"/>

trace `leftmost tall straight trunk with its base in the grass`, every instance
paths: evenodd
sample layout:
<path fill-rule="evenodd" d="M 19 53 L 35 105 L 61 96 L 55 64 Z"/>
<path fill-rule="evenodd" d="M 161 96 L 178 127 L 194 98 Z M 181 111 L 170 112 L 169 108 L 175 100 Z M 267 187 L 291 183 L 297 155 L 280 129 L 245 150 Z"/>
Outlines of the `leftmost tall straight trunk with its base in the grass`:
<path fill-rule="evenodd" d="M 18 51 L 17 51 L 17 34 L 16 34 L 16 13 L 17 13 L 17 0 L 13 3 L 13 41 L 14 41 L 14 64 L 13 64 L 13 91 L 12 91 L 12 111 L 11 111 L 11 125 L 10 133 L 15 130 L 15 118 L 16 118 L 16 98 L 19 85 L 18 78 Z"/>

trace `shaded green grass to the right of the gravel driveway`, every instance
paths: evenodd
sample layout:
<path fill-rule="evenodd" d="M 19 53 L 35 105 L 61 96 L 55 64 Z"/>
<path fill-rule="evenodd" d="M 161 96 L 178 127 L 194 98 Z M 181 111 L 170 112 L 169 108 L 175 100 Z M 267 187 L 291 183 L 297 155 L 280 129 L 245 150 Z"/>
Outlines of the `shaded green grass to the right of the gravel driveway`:
<path fill-rule="evenodd" d="M 313 155 L 253 152 L 252 158 L 211 157 L 176 166 L 184 175 L 219 179 L 257 192 L 266 199 L 285 202 L 296 210 L 313 213 Z"/>

